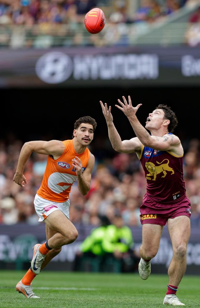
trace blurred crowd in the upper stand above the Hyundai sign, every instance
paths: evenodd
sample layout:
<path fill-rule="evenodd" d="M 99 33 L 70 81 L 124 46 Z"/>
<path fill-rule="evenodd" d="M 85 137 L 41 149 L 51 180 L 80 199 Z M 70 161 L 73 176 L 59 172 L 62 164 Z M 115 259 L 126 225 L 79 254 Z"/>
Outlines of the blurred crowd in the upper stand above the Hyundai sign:
<path fill-rule="evenodd" d="M 133 6 L 129 0 L 0 0 L 0 46 L 126 46 L 150 23 L 190 1 L 141 0 Z M 98 6 L 106 15 L 106 29 L 87 35 L 85 14 Z"/>

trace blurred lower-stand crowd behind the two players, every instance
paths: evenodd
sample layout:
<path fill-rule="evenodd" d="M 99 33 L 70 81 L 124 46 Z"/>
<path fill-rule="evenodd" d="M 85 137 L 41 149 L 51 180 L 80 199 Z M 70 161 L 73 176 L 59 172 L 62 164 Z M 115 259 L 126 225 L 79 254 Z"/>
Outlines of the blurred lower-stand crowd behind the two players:
<path fill-rule="evenodd" d="M 20 140 L 0 141 L 1 224 L 38 223 L 33 201 L 46 168 L 46 156 L 31 155 L 24 170 L 28 184 L 22 188 L 13 182 L 21 148 Z M 184 150 L 184 180 L 191 201 L 191 225 L 200 227 L 200 141 L 186 141 Z M 94 142 L 90 151 L 96 160 L 91 189 L 82 196 L 74 183 L 70 193 L 70 220 L 75 225 L 98 226 L 99 216 L 108 217 L 112 223 L 116 213 L 120 213 L 125 225 L 140 226 L 139 207 L 146 192 L 146 179 L 137 156 L 114 152 L 109 140 L 104 144 L 99 140 Z"/>

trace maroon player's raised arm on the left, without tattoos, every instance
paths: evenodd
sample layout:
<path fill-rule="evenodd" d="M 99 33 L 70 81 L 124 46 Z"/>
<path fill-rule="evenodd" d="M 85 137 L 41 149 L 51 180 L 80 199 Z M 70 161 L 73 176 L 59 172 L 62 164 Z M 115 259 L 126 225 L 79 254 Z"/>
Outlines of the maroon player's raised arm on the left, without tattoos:
<path fill-rule="evenodd" d="M 100 104 L 101 104 L 103 115 L 106 119 L 106 123 L 108 126 L 108 136 L 109 136 L 110 142 L 114 150 L 117 152 L 122 152 L 122 153 L 132 153 L 132 152 L 139 153 L 141 150 L 142 144 L 138 140 L 138 138 L 135 137 L 130 140 L 122 141 L 113 123 L 113 116 L 111 114 L 111 106 L 108 109 L 106 103 L 104 106 L 102 101 L 100 101 Z"/>

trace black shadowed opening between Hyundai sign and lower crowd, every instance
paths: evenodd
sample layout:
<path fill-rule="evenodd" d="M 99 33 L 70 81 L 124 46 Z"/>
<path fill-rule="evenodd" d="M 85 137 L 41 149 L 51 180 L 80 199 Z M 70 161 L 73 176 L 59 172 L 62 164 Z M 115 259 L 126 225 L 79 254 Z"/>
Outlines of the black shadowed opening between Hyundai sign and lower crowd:
<path fill-rule="evenodd" d="M 39 136 L 54 138 L 71 136 L 76 119 L 90 115 L 97 121 L 95 135 L 107 136 L 107 128 L 99 100 L 111 105 L 114 124 L 120 136 L 131 138 L 134 132 L 126 116 L 115 107 L 122 95 L 130 95 L 132 104 L 142 103 L 137 112 L 145 125 L 146 118 L 159 103 L 171 107 L 178 118 L 175 134 L 180 138 L 198 137 L 198 111 L 195 97 L 199 88 L 137 87 L 137 88 L 80 88 L 80 89 L 9 89 L 1 90 L 2 126 L 1 135 L 13 133 L 23 141 Z M 7 103 L 8 102 L 8 103 Z M 122 126 L 123 123 L 123 126 Z"/>

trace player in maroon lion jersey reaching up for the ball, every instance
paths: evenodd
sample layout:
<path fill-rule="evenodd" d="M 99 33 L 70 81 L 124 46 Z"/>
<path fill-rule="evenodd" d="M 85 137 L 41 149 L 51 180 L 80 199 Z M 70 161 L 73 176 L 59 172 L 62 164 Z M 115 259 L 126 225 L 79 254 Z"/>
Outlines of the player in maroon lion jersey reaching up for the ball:
<path fill-rule="evenodd" d="M 111 107 L 101 107 L 108 126 L 111 144 L 115 151 L 136 152 L 147 180 L 146 194 L 140 207 L 142 224 L 140 277 L 146 280 L 151 271 L 150 261 L 156 256 L 164 225 L 169 230 L 173 257 L 169 265 L 169 284 L 163 304 L 185 306 L 176 297 L 178 285 L 186 270 L 186 250 L 190 237 L 190 201 L 186 196 L 183 181 L 183 148 L 177 136 L 173 134 L 178 121 L 170 107 L 160 104 L 149 114 L 145 128 L 136 117 L 142 104 L 132 106 L 123 96 L 115 105 L 127 116 L 137 137 L 121 140 L 114 124 Z M 150 131 L 151 135 L 147 132 Z"/>

